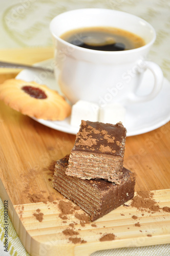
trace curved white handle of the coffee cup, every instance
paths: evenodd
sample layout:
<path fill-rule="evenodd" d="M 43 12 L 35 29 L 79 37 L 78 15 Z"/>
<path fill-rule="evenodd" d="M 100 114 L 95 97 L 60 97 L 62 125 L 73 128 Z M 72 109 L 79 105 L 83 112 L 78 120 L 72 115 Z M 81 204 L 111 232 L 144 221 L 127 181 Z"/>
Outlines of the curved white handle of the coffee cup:
<path fill-rule="evenodd" d="M 163 72 L 161 70 L 161 68 L 152 61 L 144 61 L 144 63 L 142 63 L 142 69 L 139 69 L 139 72 L 143 72 L 143 69 L 150 69 L 151 72 L 154 75 L 154 87 L 153 90 L 150 94 L 145 95 L 145 96 L 138 96 L 135 93 L 130 95 L 130 101 L 132 102 L 144 102 L 144 101 L 148 101 L 148 100 L 152 100 L 153 98 L 155 98 L 157 96 L 157 94 L 160 92 L 161 88 L 162 88 L 162 84 L 163 84 Z"/>

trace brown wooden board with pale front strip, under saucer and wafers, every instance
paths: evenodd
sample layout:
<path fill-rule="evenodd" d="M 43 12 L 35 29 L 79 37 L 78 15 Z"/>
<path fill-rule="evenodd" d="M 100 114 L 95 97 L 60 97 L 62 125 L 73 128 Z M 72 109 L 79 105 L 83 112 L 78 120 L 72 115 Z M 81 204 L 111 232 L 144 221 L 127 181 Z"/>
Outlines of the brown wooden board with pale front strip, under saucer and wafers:
<path fill-rule="evenodd" d="M 14 76 L 1 74 L 0 81 Z M 124 166 L 136 173 L 135 190 L 154 190 L 160 211 L 120 206 L 88 224 L 82 224 L 74 213 L 66 220 L 60 218 L 58 202 L 68 200 L 52 187 L 54 162 L 70 153 L 75 136 L 39 124 L 2 101 L 0 127 L 0 196 L 3 202 L 8 200 L 11 221 L 31 255 L 83 256 L 101 249 L 169 243 L 170 213 L 162 208 L 170 207 L 170 123 L 128 137 L 124 156 Z M 77 233 L 64 234 L 66 229 Z M 100 241 L 108 233 L 114 234 L 115 240 Z"/>

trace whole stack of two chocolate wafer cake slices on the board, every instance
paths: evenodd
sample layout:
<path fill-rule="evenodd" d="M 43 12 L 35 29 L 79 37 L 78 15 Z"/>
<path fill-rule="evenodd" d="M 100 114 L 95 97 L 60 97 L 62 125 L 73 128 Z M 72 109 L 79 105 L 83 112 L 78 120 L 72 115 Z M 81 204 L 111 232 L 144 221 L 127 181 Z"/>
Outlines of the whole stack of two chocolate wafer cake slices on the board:
<path fill-rule="evenodd" d="M 70 155 L 57 160 L 53 187 L 94 221 L 134 197 L 135 177 L 123 167 L 121 123 L 81 121 Z"/>

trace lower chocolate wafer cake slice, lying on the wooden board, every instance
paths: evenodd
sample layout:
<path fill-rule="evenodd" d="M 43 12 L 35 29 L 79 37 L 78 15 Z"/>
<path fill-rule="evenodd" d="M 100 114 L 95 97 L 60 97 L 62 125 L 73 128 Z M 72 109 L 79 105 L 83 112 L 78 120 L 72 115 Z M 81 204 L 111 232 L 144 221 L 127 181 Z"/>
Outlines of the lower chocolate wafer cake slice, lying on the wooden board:
<path fill-rule="evenodd" d="M 103 179 L 83 180 L 66 175 L 69 155 L 57 160 L 53 187 L 63 196 L 75 202 L 94 221 L 134 197 L 135 177 L 122 168 L 120 184 Z"/>

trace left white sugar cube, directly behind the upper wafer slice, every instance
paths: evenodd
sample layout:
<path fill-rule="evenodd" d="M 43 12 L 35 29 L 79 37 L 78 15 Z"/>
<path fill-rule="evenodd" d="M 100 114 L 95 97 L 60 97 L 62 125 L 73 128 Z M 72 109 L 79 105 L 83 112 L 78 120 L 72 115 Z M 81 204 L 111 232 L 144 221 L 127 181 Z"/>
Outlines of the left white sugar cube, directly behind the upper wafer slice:
<path fill-rule="evenodd" d="M 81 120 L 98 121 L 99 106 L 95 103 L 79 100 L 72 106 L 71 125 L 79 127 Z"/>

